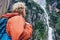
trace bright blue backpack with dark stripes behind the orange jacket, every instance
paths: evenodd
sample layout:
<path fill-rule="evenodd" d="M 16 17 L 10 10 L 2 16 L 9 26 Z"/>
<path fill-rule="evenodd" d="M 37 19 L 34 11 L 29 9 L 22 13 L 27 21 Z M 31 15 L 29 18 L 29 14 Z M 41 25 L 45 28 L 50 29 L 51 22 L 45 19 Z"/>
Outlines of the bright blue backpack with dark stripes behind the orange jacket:
<path fill-rule="evenodd" d="M 11 40 L 11 37 L 6 33 L 7 18 L 0 19 L 0 40 Z"/>

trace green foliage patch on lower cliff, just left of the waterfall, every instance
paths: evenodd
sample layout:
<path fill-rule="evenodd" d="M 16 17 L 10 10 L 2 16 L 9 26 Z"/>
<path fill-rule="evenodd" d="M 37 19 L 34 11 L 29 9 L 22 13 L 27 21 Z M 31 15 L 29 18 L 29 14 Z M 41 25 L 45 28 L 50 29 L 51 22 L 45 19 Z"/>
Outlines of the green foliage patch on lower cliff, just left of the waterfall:
<path fill-rule="evenodd" d="M 36 38 L 37 38 L 37 40 L 46 40 L 45 38 L 46 38 L 46 29 L 45 29 L 45 25 L 43 24 L 43 21 L 40 21 L 40 22 L 36 22 L 36 28 L 35 28 L 35 30 L 36 30 Z"/>

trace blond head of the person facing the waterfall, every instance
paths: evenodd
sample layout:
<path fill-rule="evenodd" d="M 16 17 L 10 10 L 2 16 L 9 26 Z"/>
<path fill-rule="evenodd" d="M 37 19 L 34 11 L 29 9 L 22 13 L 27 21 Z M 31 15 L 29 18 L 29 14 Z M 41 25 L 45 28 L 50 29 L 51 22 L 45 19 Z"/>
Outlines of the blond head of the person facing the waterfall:
<path fill-rule="evenodd" d="M 25 3 L 17 2 L 12 6 L 12 12 L 18 12 L 19 14 L 25 16 L 25 8 Z"/>

